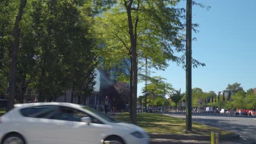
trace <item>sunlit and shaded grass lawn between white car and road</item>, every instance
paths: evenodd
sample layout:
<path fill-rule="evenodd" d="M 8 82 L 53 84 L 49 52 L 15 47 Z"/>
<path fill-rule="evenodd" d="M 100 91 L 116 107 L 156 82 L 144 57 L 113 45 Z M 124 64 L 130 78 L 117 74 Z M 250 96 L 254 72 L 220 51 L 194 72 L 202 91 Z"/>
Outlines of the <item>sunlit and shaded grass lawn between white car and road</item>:
<path fill-rule="evenodd" d="M 117 119 L 124 122 L 131 122 L 129 113 L 121 113 Z M 156 113 L 139 113 L 137 114 L 137 125 L 147 133 L 165 133 L 165 134 L 185 134 L 185 120 L 164 116 Z M 220 135 L 233 135 L 230 131 L 220 130 L 207 125 L 193 123 L 192 130 L 194 135 L 210 135 L 211 131 L 218 132 Z M 191 134 L 188 134 L 191 135 Z"/>

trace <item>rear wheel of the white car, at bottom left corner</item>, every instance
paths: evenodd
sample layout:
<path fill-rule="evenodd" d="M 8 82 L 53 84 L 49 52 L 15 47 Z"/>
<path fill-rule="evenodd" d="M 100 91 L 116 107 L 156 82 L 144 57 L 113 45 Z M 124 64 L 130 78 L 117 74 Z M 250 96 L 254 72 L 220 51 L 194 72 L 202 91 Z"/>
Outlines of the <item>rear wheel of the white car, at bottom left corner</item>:
<path fill-rule="evenodd" d="M 2 144 L 25 144 L 25 141 L 19 134 L 9 134 L 4 137 Z"/>

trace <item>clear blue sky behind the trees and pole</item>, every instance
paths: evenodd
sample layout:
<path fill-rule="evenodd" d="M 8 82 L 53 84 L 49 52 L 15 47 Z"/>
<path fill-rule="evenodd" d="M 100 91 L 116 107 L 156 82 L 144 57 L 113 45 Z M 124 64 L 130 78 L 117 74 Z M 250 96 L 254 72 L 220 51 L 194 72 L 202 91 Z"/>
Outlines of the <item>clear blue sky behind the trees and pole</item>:
<path fill-rule="evenodd" d="M 199 23 L 199 33 L 193 33 L 193 57 L 206 64 L 192 70 L 192 87 L 204 92 L 223 91 L 230 83 L 241 83 L 247 90 L 256 87 L 256 1 L 207 0 L 206 10 L 193 7 L 193 23 Z M 180 4 L 185 6 L 185 2 Z M 170 62 L 162 76 L 173 88 L 185 91 L 185 70 Z M 138 84 L 138 95 L 144 83 Z"/>

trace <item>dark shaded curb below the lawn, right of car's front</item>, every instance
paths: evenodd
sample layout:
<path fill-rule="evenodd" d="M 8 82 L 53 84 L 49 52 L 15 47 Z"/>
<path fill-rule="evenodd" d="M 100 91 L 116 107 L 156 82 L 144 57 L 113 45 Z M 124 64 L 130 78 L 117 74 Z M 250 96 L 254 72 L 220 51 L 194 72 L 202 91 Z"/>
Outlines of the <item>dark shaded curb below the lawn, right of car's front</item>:
<path fill-rule="evenodd" d="M 148 134 L 150 139 L 174 139 L 174 140 L 199 140 L 199 141 L 211 141 L 210 135 L 175 135 L 175 134 Z M 219 136 L 220 141 L 239 140 L 240 135 L 228 135 Z"/>

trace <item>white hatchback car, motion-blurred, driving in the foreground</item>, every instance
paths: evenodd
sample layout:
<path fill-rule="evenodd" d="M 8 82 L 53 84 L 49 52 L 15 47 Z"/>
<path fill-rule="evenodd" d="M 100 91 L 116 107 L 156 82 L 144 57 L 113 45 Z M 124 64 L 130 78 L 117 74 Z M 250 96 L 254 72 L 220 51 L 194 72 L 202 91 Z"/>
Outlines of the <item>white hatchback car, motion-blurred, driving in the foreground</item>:
<path fill-rule="evenodd" d="M 0 117 L 1 144 L 109 142 L 147 144 L 149 136 L 136 125 L 70 103 L 16 104 Z"/>

